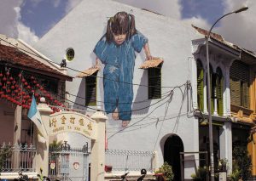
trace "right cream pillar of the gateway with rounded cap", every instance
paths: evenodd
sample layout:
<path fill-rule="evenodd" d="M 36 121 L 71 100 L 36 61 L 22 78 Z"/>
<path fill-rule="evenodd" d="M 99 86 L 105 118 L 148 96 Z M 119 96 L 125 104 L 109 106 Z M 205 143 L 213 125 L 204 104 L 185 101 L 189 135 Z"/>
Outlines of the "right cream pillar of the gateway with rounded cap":
<path fill-rule="evenodd" d="M 105 175 L 105 123 L 108 119 L 101 111 L 91 116 L 96 121 L 96 139 L 91 140 L 90 180 L 102 181 Z"/>

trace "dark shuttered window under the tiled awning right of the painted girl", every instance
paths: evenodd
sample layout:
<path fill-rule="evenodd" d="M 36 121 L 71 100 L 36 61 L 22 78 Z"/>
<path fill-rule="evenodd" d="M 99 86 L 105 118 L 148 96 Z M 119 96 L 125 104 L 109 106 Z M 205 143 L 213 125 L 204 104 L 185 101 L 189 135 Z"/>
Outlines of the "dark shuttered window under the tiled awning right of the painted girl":
<path fill-rule="evenodd" d="M 148 68 L 148 99 L 161 98 L 161 65 Z"/>

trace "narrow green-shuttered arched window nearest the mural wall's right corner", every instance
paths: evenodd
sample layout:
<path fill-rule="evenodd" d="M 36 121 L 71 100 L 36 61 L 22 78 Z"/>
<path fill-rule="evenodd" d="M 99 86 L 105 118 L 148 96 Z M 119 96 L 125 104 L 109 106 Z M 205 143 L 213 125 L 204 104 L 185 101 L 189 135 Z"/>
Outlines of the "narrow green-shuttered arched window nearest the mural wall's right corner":
<path fill-rule="evenodd" d="M 199 110 L 204 109 L 204 70 L 201 65 L 201 60 L 196 61 L 197 67 L 197 105 Z"/>

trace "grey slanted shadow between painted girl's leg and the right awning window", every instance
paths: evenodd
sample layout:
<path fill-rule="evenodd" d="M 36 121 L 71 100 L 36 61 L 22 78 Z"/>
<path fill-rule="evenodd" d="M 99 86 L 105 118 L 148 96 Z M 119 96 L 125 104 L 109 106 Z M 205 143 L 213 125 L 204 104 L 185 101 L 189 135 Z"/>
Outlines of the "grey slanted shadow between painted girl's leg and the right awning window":
<path fill-rule="evenodd" d="M 143 71 L 140 85 L 148 85 L 148 71 Z M 137 85 L 134 85 L 137 86 Z M 147 114 L 151 105 L 151 99 L 148 99 L 148 87 L 138 86 L 136 98 L 132 104 L 132 115 Z"/>

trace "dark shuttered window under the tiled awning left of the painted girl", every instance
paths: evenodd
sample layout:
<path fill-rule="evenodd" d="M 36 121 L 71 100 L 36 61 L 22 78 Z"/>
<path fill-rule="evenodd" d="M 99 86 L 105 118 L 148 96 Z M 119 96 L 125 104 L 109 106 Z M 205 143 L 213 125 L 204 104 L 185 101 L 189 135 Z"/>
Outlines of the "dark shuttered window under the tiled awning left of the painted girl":
<path fill-rule="evenodd" d="M 97 72 L 85 77 L 85 105 L 96 105 L 96 76 Z"/>

